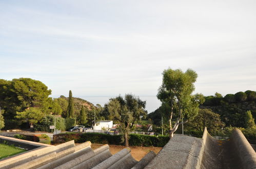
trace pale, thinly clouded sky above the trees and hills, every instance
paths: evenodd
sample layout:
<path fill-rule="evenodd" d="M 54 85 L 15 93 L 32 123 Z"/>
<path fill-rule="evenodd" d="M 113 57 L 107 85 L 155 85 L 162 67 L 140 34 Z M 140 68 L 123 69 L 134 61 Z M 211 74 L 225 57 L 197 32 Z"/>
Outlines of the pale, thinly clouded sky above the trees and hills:
<path fill-rule="evenodd" d="M 134 94 L 152 112 L 165 69 L 192 69 L 194 93 L 256 90 L 256 1 L 3 1 L 0 78 L 51 97 L 104 104 Z"/>

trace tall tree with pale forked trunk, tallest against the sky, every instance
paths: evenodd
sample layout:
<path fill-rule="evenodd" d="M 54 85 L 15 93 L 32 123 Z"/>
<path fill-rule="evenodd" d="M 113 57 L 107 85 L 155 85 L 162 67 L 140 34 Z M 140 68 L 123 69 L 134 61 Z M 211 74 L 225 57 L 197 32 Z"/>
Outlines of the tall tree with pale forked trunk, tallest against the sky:
<path fill-rule="evenodd" d="M 193 119 L 198 114 L 199 104 L 202 103 L 202 95 L 192 96 L 194 91 L 194 82 L 198 75 L 191 69 L 183 73 L 180 69 L 167 69 L 163 72 L 162 86 L 159 88 L 157 98 L 170 106 L 169 114 L 169 135 L 173 137 L 173 133 L 178 126 Z M 200 99 L 199 99 L 200 98 Z M 176 115 L 176 122 L 172 126 L 172 116 Z M 186 120 L 180 122 L 182 118 Z"/>

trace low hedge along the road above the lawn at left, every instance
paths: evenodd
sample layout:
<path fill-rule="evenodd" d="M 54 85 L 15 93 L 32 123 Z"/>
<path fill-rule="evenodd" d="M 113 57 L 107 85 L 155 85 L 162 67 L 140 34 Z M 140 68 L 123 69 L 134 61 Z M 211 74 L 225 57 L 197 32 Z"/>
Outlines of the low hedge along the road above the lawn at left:
<path fill-rule="evenodd" d="M 36 134 L 36 135 L 15 134 L 14 138 L 40 142 L 44 144 L 51 144 L 51 139 L 47 134 Z"/>

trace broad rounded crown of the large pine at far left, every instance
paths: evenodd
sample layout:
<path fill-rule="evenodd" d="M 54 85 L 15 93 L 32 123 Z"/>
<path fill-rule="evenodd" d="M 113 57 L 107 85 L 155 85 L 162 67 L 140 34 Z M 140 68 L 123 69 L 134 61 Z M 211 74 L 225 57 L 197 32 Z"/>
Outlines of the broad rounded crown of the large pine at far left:
<path fill-rule="evenodd" d="M 24 119 L 15 119 L 16 112 L 25 112 L 28 108 L 37 108 L 44 114 L 50 113 L 52 99 L 48 96 L 51 90 L 38 80 L 19 78 L 0 79 L 0 104 L 5 110 L 6 128 L 20 125 Z M 34 122 L 34 121 L 33 121 Z M 11 126 L 11 124 L 14 124 Z"/>

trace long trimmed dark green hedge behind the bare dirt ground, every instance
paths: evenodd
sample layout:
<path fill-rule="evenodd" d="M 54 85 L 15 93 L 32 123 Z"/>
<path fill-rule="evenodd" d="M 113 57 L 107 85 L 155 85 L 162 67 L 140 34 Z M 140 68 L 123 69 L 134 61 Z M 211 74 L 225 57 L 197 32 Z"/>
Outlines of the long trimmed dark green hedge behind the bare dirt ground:
<path fill-rule="evenodd" d="M 99 144 L 124 145 L 121 143 L 122 135 L 109 135 L 102 133 L 62 133 L 53 135 L 54 143 L 63 143 L 74 140 L 76 143 L 91 141 Z M 130 146 L 158 146 L 163 147 L 169 141 L 169 136 L 148 136 L 140 134 L 130 134 Z"/>

